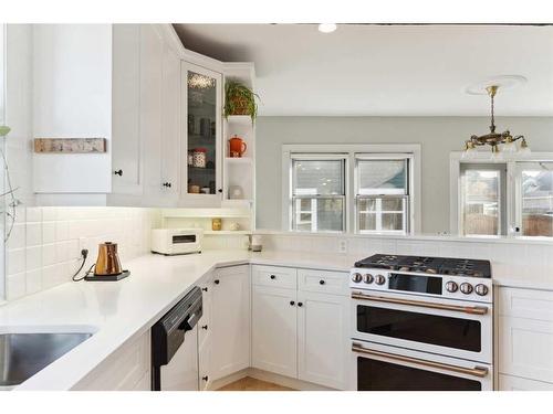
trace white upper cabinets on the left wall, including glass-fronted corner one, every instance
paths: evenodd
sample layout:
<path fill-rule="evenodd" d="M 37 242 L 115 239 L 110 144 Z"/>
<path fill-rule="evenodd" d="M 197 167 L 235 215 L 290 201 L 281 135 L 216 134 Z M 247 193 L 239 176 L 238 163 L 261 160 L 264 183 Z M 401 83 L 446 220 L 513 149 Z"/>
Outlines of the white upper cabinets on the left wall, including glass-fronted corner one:
<path fill-rule="evenodd" d="M 33 30 L 35 137 L 107 141 L 103 153 L 34 153 L 39 204 L 221 205 L 221 62 L 185 50 L 170 24 Z M 227 184 L 249 182 L 251 202 L 252 169 L 239 167 Z"/>

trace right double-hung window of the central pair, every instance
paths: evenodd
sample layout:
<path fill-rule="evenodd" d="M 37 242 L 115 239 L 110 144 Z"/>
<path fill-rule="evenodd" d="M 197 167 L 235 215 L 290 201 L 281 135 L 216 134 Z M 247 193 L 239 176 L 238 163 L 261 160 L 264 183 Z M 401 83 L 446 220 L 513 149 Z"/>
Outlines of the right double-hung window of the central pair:
<path fill-rule="evenodd" d="M 409 232 L 410 162 L 404 155 L 355 155 L 358 233 Z"/>

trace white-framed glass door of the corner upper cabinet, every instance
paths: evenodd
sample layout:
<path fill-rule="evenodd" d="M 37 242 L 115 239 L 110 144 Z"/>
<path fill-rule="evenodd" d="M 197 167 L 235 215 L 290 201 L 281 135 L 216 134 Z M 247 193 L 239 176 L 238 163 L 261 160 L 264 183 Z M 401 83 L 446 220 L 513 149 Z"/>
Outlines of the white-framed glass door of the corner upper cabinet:
<path fill-rule="evenodd" d="M 187 194 L 219 194 L 221 151 L 221 75 L 185 63 L 186 77 L 186 166 Z"/>

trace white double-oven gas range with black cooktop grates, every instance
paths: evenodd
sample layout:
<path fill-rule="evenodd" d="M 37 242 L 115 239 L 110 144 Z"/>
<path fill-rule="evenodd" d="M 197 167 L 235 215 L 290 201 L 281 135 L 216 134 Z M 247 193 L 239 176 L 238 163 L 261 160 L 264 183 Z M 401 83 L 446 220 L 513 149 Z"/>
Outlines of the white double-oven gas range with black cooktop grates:
<path fill-rule="evenodd" d="M 349 287 L 354 388 L 493 389 L 489 261 L 377 254 L 355 263 Z"/>

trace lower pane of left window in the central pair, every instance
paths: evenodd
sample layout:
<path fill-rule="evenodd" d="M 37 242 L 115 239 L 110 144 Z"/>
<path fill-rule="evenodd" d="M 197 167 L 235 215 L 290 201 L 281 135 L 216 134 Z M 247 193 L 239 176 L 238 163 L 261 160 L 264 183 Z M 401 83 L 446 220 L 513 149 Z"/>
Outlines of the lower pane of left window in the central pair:
<path fill-rule="evenodd" d="M 293 230 L 303 232 L 344 231 L 344 199 L 295 199 Z"/>

